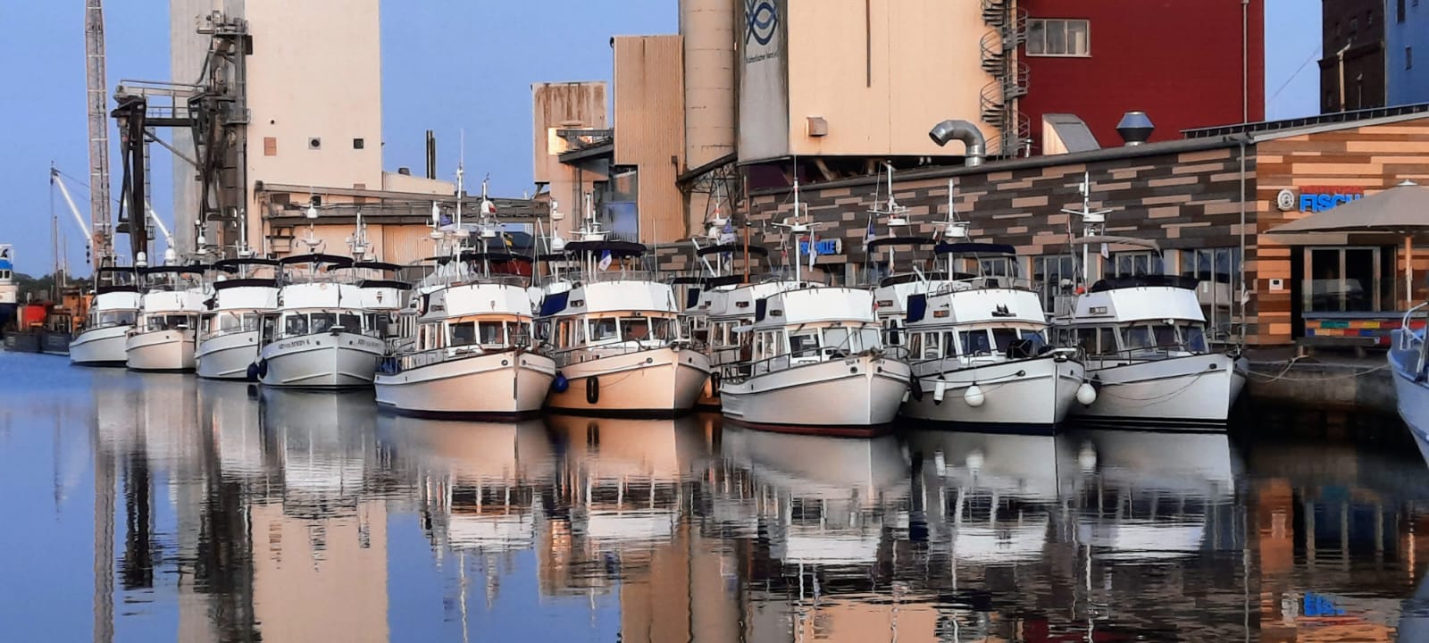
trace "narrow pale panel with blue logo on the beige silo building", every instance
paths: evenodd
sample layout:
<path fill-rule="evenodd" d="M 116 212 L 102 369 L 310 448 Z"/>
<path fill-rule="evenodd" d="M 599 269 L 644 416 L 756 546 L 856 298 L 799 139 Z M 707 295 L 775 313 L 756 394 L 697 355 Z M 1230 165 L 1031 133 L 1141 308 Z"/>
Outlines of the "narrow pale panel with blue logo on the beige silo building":
<path fill-rule="evenodd" d="M 789 153 L 789 63 L 786 0 L 742 0 L 745 29 L 739 86 L 739 160 Z"/>

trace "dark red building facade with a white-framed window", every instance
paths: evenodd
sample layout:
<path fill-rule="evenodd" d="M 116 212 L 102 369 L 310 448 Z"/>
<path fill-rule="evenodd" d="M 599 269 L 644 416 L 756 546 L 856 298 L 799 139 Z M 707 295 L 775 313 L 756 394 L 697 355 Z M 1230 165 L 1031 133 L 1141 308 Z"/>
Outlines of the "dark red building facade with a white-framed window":
<path fill-rule="evenodd" d="M 1019 107 L 1030 119 L 1033 154 L 1043 151 L 1043 114 L 1080 117 L 1102 147 L 1122 144 L 1116 123 L 1129 110 L 1146 111 L 1156 124 L 1152 141 L 1265 119 L 1265 0 L 1017 6 L 1027 17 L 1017 51 L 1027 93 Z"/>

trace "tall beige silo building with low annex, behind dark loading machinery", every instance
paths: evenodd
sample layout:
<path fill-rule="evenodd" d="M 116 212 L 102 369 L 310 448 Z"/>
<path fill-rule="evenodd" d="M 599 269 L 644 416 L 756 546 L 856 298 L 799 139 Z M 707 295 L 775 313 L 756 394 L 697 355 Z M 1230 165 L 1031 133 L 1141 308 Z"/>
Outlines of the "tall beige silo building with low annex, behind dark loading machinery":
<path fill-rule="evenodd" d="M 433 201 L 454 209 L 456 186 L 436 179 L 432 146 L 426 176 L 383 169 L 379 0 L 171 0 L 170 37 L 173 84 L 154 96 L 171 99 L 176 114 L 204 93 L 224 101 L 210 116 L 226 143 L 174 161 L 180 253 L 194 250 L 200 213 L 210 256 L 231 254 L 244 233 L 264 254 L 306 251 L 309 236 L 346 253 L 360 211 L 373 259 L 430 256 Z M 173 129 L 179 153 L 194 150 L 191 131 Z M 211 167 L 206 150 L 217 150 Z M 214 186 L 207 200 L 206 176 Z M 317 219 L 309 220 L 314 197 Z M 493 201 L 504 220 L 537 213 L 524 200 Z M 477 206 L 479 197 L 464 204 Z"/>

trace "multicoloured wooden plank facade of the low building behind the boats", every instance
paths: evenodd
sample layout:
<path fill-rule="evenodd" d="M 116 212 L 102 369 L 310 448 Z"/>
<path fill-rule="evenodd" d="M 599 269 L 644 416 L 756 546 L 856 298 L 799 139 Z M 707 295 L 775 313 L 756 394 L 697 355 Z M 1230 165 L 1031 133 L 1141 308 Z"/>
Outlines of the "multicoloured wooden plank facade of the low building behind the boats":
<path fill-rule="evenodd" d="M 1022 270 L 1046 279 L 1059 274 L 1049 266 L 1069 254 L 1069 231 L 1080 234 L 1077 217 L 1060 210 L 1080 210 L 1083 176 L 1090 179 L 1090 207 L 1113 210 L 1106 233 L 1155 240 L 1163 249 L 1165 271 L 1203 279 L 1202 303 L 1208 319 L 1215 317 L 1213 324 L 1222 330 L 1240 322 L 1245 217 L 1246 342 L 1286 344 L 1303 333 L 1293 306 L 1302 296 L 1296 281 L 1300 270 L 1293 267 L 1302 254 L 1280 236 L 1259 237 L 1302 213 L 1276 207 L 1278 194 L 1306 186 L 1358 186 L 1373 193 L 1406 179 L 1429 184 L 1429 116 L 912 170 L 895 177 L 893 191 L 897 203 L 910 209 L 919 233 L 932 234 L 935 224 L 946 219 L 952 180 L 955 207 L 970 223 L 973 240 L 1016 246 Z M 803 186 L 800 191 L 810 216 L 820 223 L 819 237 L 842 240 L 842 254 L 816 260 L 835 283 L 852 283 L 869 261 L 863 240 L 875 189 L 873 177 L 860 177 Z M 780 263 L 780 231 L 772 224 L 792 214 L 792 191 L 755 193 L 746 211 L 755 243 L 769 246 L 775 263 Z M 876 231 L 886 234 L 887 229 L 880 224 Z M 1320 241 L 1346 243 L 1338 237 Z M 1392 256 L 1390 263 L 1402 271 L 1402 239 L 1363 243 L 1382 244 L 1385 257 Z M 694 270 L 689 249 L 663 247 L 662 267 Z M 1097 279 L 1102 261 L 1092 263 Z M 1066 264 L 1060 266 L 1065 274 Z M 1416 274 L 1429 276 L 1429 247 L 1413 256 L 1413 267 Z M 1423 279 L 1419 281 L 1413 294 L 1423 300 L 1429 289 Z M 1396 287 L 1399 299 L 1388 310 L 1403 307 L 1403 284 Z"/>

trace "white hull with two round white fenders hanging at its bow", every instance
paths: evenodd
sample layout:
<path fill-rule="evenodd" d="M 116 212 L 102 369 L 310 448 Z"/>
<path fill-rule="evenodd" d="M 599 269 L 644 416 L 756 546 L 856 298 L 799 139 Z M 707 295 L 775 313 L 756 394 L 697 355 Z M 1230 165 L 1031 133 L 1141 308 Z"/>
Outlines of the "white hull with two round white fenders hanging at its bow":
<path fill-rule="evenodd" d="M 947 362 L 952 364 L 952 362 Z M 1036 357 L 999 362 L 936 373 L 937 363 L 915 364 L 919 373 L 903 403 L 905 417 L 982 430 L 1052 433 L 1076 404 L 1085 367 L 1076 360 Z M 923 374 L 923 372 L 932 372 Z M 942 402 L 937 383 L 943 382 Z M 980 406 L 965 399 L 972 384 L 983 393 Z"/>

